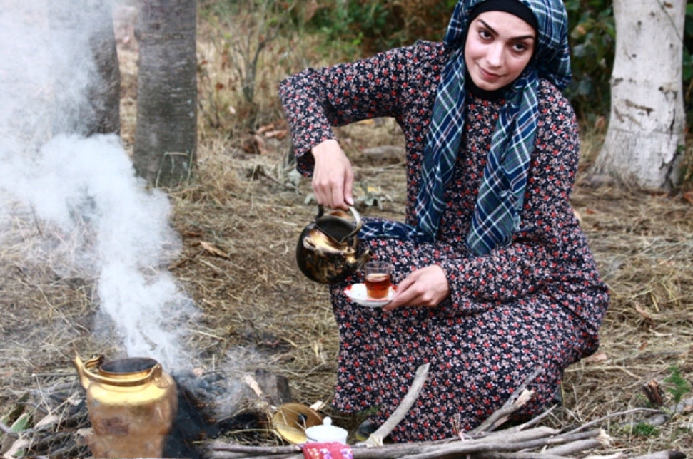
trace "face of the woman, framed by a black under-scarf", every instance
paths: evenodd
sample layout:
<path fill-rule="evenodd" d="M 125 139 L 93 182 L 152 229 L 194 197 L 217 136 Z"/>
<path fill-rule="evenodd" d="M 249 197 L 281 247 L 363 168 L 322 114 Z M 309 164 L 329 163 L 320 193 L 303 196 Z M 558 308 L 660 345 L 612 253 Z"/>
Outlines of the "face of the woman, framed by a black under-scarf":
<path fill-rule="evenodd" d="M 479 88 L 495 91 L 515 81 L 532 58 L 535 30 L 505 11 L 486 11 L 470 24 L 465 64 Z"/>

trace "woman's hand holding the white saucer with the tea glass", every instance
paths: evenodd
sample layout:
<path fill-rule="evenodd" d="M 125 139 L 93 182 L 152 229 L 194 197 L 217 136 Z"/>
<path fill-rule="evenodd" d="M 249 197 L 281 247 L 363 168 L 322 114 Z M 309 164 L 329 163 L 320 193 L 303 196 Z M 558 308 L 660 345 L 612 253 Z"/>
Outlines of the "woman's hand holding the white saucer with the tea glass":
<path fill-rule="evenodd" d="M 433 308 L 450 295 L 445 271 L 437 264 L 411 272 L 397 286 L 393 301 L 384 306 L 393 311 L 400 306 L 425 306 Z"/>

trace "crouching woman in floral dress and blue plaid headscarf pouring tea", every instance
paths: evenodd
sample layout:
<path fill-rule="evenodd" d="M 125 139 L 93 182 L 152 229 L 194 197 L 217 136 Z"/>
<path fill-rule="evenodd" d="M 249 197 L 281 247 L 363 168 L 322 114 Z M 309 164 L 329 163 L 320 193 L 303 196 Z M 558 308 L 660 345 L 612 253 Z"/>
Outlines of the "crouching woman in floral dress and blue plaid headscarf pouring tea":
<path fill-rule="evenodd" d="M 405 223 L 360 237 L 395 265 L 383 309 L 330 287 L 340 334 L 333 406 L 393 413 L 422 363 L 425 385 L 395 441 L 448 438 L 500 408 L 536 368 L 520 415 L 540 411 L 592 354 L 608 304 L 572 212 L 579 139 L 560 0 L 460 0 L 444 43 L 309 68 L 280 84 L 298 168 L 320 204 L 353 204 L 331 125 L 393 116 L 407 148 Z M 375 408 L 374 408 L 375 409 Z"/>

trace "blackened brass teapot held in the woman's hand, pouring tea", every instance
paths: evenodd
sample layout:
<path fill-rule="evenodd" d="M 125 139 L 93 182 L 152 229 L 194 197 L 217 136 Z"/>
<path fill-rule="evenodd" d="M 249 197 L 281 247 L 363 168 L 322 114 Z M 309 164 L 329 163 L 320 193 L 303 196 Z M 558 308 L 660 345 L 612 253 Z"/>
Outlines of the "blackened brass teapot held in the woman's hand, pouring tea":
<path fill-rule="evenodd" d="M 303 229 L 296 246 L 298 268 L 308 279 L 336 284 L 360 269 L 370 259 L 368 250 L 358 253 L 361 217 L 354 207 L 350 215 L 335 210 L 325 215 L 318 205 L 315 220 Z"/>

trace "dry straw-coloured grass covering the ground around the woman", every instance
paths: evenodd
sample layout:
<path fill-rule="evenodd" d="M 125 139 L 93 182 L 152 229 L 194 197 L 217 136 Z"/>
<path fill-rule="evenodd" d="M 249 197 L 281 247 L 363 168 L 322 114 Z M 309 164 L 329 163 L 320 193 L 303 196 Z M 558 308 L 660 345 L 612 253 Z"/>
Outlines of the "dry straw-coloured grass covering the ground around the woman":
<path fill-rule="evenodd" d="M 218 56 L 206 46 L 201 43 L 212 67 Z M 300 52 L 296 43 L 277 45 L 283 50 L 291 46 Z M 294 56 L 292 65 L 300 60 Z M 127 143 L 133 133 L 136 68 L 121 68 L 123 81 L 129 82 L 123 86 Z M 279 73 L 268 75 L 270 80 L 280 78 Z M 227 77 L 218 66 L 210 73 L 210 84 Z M 267 83 L 261 105 L 273 107 L 264 121 L 280 125 L 272 102 L 274 86 L 275 81 Z M 229 95 L 226 103 L 231 100 Z M 183 252 L 171 271 L 202 311 L 201 321 L 191 324 L 187 344 L 207 369 L 265 368 L 289 379 L 296 401 L 329 401 L 338 341 L 326 289 L 303 278 L 295 267 L 295 241 L 315 210 L 304 204 L 310 192 L 306 180 L 297 188 L 284 185 L 288 140 L 264 139 L 262 154 L 247 153 L 243 140 L 252 132 L 238 128 L 233 117 L 224 118 L 218 128 L 201 119 L 200 132 L 197 180 L 170 192 L 172 222 L 183 238 Z M 592 134 L 586 135 L 585 158 L 598 148 L 599 133 L 596 138 Z M 354 125 L 343 129 L 341 137 L 357 180 L 379 185 L 383 195 L 392 198 L 383 200 L 382 209 L 364 213 L 400 217 L 403 165 L 373 163 L 360 154 L 373 145 L 399 145 L 392 123 Z M 670 388 L 664 378 L 672 366 L 693 381 L 693 205 L 681 195 L 592 189 L 583 177 L 584 172 L 572 202 L 612 291 L 612 304 L 596 358 L 575 364 L 565 374 L 564 406 L 547 421 L 562 427 L 647 407 L 641 387 L 655 379 L 665 390 Z M 14 226 L 17 236 L 0 248 L 0 416 L 28 388 L 53 381 L 52 373 L 74 374 L 70 359 L 75 352 L 109 354 L 117 346 L 93 334 L 94 324 L 103 321 L 94 279 L 59 274 L 50 260 L 28 264 L 31 236 L 49 234 L 50 229 L 21 212 Z M 674 416 L 651 435 L 619 428 L 646 416 L 636 412 L 600 422 L 614 444 L 599 452 L 693 450 L 692 413 Z"/>

